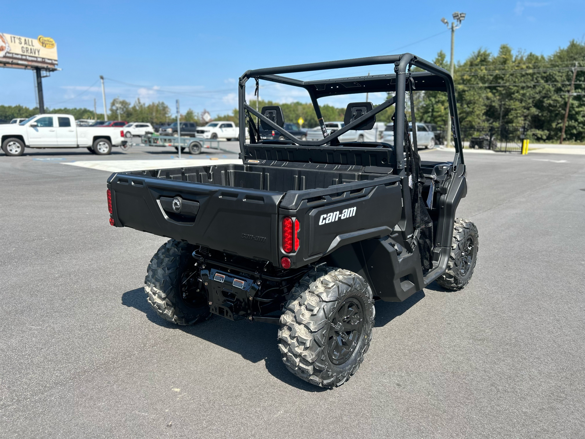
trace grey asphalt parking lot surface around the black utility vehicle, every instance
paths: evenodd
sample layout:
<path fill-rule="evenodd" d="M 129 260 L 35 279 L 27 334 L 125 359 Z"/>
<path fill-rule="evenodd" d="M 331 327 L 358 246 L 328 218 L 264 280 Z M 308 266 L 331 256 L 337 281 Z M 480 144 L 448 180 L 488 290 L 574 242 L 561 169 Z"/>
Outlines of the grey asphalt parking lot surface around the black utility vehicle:
<path fill-rule="evenodd" d="M 285 369 L 274 325 L 157 317 L 143 282 L 166 239 L 111 227 L 111 172 L 63 164 L 174 150 L 26 154 L 0 155 L 1 437 L 585 435 L 585 155 L 467 153 L 472 281 L 376 303 L 359 372 L 323 390 Z"/>

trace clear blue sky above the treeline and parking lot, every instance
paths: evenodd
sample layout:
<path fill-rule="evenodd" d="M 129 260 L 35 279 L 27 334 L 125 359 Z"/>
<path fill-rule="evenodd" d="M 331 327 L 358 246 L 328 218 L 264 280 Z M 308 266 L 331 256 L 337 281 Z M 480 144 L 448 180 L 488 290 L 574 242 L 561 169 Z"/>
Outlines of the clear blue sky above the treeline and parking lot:
<path fill-rule="evenodd" d="M 0 32 L 57 42 L 63 70 L 43 80 L 45 104 L 92 108 L 97 98 L 98 112 L 103 111 L 99 75 L 107 78 L 108 105 L 119 96 L 131 102 L 163 100 L 174 108 L 180 98 L 182 110 L 205 108 L 215 115 L 236 106 L 236 79 L 252 68 L 403 52 L 432 60 L 441 49 L 449 56 L 450 35 L 441 17 L 450 19 L 455 11 L 467 13 L 456 32 L 456 60 L 480 47 L 496 52 L 503 43 L 548 55 L 571 39 L 585 39 L 583 0 L 29 1 L 2 8 Z M 385 73 L 380 66 L 370 70 Z M 307 100 L 274 85 L 262 89 L 261 97 Z M 0 68 L 0 105 L 17 104 L 35 106 L 33 73 Z"/>

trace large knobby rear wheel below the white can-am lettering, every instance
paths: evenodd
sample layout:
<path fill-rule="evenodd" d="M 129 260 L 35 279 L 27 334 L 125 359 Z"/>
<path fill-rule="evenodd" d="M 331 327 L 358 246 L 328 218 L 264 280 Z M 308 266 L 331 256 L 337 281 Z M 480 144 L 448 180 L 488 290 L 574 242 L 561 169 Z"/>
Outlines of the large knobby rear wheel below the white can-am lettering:
<path fill-rule="evenodd" d="M 362 276 L 319 267 L 295 285 L 280 317 L 284 365 L 320 387 L 345 383 L 370 347 L 374 300 Z"/>

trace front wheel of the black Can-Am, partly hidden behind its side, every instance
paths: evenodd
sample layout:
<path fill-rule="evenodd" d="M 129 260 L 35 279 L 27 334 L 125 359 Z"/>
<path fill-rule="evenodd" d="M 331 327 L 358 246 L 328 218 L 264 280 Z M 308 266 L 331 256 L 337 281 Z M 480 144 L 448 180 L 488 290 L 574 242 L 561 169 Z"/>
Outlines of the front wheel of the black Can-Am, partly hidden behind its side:
<path fill-rule="evenodd" d="M 437 279 L 437 283 L 448 290 L 460 290 L 472 278 L 476 265 L 479 234 L 473 222 L 455 218 L 453 241 L 447 270 Z"/>

